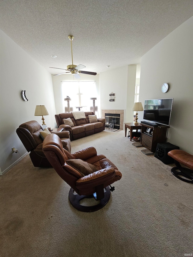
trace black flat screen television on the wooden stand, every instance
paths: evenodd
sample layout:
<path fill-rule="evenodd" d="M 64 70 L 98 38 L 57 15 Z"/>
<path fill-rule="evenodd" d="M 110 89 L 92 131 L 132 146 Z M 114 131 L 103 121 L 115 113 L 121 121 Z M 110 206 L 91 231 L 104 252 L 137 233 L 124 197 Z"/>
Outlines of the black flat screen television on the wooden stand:
<path fill-rule="evenodd" d="M 173 98 L 145 100 L 144 119 L 169 126 Z"/>

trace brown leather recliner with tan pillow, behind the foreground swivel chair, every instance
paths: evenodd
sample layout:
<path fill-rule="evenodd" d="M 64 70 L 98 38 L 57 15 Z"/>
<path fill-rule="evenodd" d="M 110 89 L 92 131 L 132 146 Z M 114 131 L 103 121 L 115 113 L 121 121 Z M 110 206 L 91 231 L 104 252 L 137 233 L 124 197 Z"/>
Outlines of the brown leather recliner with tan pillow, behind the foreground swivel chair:
<path fill-rule="evenodd" d="M 21 139 L 27 152 L 30 152 L 30 158 L 34 167 L 52 167 L 47 160 L 42 150 L 43 139 L 40 137 L 40 131 L 43 131 L 42 126 L 37 121 L 28 121 L 21 124 L 16 133 Z M 54 133 L 57 134 L 61 140 L 63 147 L 71 152 L 70 135 L 68 131 Z"/>

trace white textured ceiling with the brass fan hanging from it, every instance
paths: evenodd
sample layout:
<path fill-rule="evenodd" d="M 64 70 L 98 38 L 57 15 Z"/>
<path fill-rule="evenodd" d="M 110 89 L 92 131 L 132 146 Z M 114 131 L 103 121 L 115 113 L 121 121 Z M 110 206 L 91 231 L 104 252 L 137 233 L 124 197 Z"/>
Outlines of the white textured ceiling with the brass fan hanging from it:
<path fill-rule="evenodd" d="M 192 0 L 0 0 L 0 29 L 52 74 L 72 64 L 68 35 L 73 63 L 100 73 L 139 64 L 192 15 Z"/>

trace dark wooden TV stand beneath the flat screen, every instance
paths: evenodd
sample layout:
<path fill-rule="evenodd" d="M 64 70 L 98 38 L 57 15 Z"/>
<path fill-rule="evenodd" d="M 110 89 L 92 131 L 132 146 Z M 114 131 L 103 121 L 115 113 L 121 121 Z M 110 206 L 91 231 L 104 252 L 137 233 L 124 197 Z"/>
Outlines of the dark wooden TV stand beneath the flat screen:
<path fill-rule="evenodd" d="M 158 143 L 165 143 L 166 132 L 169 126 L 158 125 L 158 127 L 151 127 L 142 123 L 141 125 L 141 144 L 151 152 L 155 152 Z M 152 134 L 147 133 L 148 128 L 151 129 Z"/>

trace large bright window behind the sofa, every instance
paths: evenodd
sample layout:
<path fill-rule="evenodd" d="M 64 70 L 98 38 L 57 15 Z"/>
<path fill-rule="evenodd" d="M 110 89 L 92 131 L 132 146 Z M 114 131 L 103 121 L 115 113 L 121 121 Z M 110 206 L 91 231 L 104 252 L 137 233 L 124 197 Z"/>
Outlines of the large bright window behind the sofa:
<path fill-rule="evenodd" d="M 62 81 L 62 98 L 67 96 L 71 98 L 70 107 L 73 111 L 78 111 L 77 107 L 82 107 L 81 111 L 90 111 L 90 106 L 93 105 L 91 97 L 96 97 L 95 81 Z M 67 102 L 63 102 L 65 109 Z"/>

